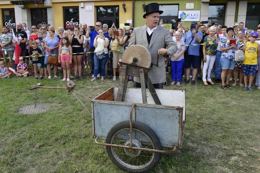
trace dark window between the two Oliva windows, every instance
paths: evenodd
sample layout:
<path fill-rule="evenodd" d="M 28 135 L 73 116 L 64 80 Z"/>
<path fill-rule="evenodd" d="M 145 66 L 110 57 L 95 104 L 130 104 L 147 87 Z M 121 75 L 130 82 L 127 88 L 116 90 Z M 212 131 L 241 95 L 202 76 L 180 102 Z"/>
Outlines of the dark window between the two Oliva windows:
<path fill-rule="evenodd" d="M 37 26 L 39 23 L 46 25 L 48 23 L 47 9 L 31 9 L 31 20 L 32 25 Z"/>

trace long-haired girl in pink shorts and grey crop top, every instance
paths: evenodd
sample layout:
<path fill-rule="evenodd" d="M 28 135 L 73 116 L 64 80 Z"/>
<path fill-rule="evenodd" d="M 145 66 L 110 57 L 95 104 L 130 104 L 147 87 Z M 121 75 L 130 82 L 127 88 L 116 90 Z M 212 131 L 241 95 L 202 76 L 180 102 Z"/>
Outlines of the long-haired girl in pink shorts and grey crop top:
<path fill-rule="evenodd" d="M 65 55 L 67 54 L 67 55 Z M 62 81 L 69 81 L 70 77 L 70 68 L 69 64 L 72 63 L 72 47 L 69 45 L 69 38 L 68 37 L 63 37 L 62 38 L 62 43 L 59 46 L 59 63 L 62 63 L 63 66 L 63 79 Z M 66 79 L 66 76 L 68 78 Z"/>

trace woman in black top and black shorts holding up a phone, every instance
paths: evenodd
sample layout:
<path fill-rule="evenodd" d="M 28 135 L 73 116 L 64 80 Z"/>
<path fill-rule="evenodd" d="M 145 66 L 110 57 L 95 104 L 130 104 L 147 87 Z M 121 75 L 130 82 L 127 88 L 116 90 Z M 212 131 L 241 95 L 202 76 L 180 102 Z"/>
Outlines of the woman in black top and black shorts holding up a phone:
<path fill-rule="evenodd" d="M 84 37 L 80 34 L 80 28 L 78 26 L 74 27 L 74 32 L 70 32 L 69 42 L 72 45 L 72 53 L 76 53 L 72 55 L 72 59 L 74 62 L 74 78 L 82 79 L 81 72 L 81 60 L 84 53 L 83 49 L 83 41 Z M 77 72 L 79 72 L 79 76 L 77 77 Z"/>

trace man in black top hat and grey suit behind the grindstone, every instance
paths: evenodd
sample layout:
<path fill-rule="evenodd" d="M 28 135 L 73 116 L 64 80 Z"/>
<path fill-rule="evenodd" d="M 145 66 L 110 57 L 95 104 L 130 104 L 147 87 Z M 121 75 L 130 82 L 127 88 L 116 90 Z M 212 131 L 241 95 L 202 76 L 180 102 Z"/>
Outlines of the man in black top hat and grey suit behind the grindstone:
<path fill-rule="evenodd" d="M 153 66 L 152 70 L 148 72 L 154 88 L 163 88 L 166 81 L 164 57 L 166 52 L 174 54 L 177 51 L 177 45 L 170 37 L 167 28 L 158 25 L 160 21 L 160 14 L 163 11 L 159 10 L 158 3 L 150 3 L 145 6 L 146 13 L 143 18 L 147 23 L 141 27 L 134 29 L 129 46 L 142 45 L 146 47 L 152 57 L 152 63 L 157 63 L 157 55 L 159 55 L 158 67 Z M 134 87 L 141 88 L 140 77 L 134 77 Z"/>

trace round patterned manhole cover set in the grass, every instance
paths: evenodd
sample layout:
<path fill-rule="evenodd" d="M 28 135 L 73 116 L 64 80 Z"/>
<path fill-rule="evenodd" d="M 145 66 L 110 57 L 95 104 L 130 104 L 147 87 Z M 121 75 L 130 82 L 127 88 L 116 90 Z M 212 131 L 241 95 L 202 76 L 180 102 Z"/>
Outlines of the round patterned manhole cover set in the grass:
<path fill-rule="evenodd" d="M 48 105 L 36 104 L 36 108 L 34 108 L 34 105 L 27 105 L 27 106 L 20 107 L 18 110 L 18 113 L 20 113 L 20 114 L 38 114 L 41 112 L 46 112 L 49 109 L 50 109 L 50 106 L 48 106 Z"/>

